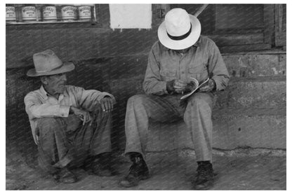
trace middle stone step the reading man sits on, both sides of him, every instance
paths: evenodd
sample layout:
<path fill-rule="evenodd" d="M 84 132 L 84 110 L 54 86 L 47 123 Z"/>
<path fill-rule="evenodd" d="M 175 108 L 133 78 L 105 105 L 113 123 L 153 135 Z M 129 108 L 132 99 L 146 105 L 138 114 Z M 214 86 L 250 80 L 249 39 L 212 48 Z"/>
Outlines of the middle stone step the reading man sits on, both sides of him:
<path fill-rule="evenodd" d="M 109 83 L 108 90 L 125 106 L 129 97 L 144 93 L 142 81 L 142 76 L 119 79 Z M 227 88 L 215 94 L 218 109 L 286 106 L 286 76 L 231 78 Z"/>

